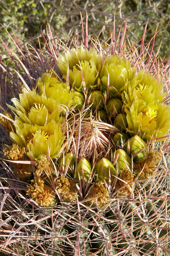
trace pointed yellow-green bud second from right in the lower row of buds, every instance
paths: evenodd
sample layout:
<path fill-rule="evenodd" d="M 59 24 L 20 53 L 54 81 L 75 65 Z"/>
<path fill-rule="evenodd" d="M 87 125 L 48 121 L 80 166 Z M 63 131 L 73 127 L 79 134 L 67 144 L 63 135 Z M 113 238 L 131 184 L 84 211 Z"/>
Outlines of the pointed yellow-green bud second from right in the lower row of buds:
<path fill-rule="evenodd" d="M 118 156 L 116 165 L 119 167 L 119 171 L 129 167 L 131 168 L 131 158 L 130 156 L 122 149 L 117 149 L 115 153 L 113 153 L 113 155 L 115 154 L 115 158 Z M 120 175 L 121 173 L 119 173 Z"/>

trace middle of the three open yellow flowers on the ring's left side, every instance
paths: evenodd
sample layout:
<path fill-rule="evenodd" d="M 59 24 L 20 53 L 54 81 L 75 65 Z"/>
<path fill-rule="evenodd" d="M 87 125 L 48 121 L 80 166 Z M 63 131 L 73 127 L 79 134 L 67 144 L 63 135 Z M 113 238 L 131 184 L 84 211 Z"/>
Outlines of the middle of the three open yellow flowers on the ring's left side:
<path fill-rule="evenodd" d="M 23 93 L 19 94 L 20 100 L 12 98 L 14 106 L 8 105 L 11 110 L 15 111 L 18 116 L 15 120 L 20 123 L 29 123 L 32 125 L 43 126 L 44 124 L 55 120 L 60 122 L 60 106 L 53 98 L 47 98 L 45 94 L 38 95 L 35 89 L 29 92 L 26 88 L 22 89 Z"/>

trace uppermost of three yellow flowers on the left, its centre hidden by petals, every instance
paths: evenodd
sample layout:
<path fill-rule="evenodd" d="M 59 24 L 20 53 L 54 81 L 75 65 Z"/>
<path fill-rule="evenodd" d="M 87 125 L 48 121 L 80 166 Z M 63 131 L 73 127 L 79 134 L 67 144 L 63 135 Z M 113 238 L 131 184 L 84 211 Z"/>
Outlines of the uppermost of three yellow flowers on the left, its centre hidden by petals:
<path fill-rule="evenodd" d="M 65 83 L 60 83 L 55 77 L 51 77 L 49 73 L 43 73 L 36 81 L 40 95 L 45 94 L 47 98 L 53 98 L 57 105 L 64 107 L 71 106 L 73 103 L 73 92 Z"/>

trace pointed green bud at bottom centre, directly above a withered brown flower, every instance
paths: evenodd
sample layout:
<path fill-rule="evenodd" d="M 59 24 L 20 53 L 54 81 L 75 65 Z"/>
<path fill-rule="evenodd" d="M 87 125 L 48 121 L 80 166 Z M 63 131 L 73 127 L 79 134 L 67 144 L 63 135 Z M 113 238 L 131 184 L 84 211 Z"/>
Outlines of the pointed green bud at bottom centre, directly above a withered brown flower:
<path fill-rule="evenodd" d="M 106 183 L 109 184 L 109 170 L 110 170 L 111 183 L 113 183 L 113 180 L 116 175 L 116 169 L 109 160 L 107 160 L 106 158 L 102 158 L 100 161 L 98 161 L 95 164 L 94 168 L 97 174 L 97 181 L 105 180 Z"/>

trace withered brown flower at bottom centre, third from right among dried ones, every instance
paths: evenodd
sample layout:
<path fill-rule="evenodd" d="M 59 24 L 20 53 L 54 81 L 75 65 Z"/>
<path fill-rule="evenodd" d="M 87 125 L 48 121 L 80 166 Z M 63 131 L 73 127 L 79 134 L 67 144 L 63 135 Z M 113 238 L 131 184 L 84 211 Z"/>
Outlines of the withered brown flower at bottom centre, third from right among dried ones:
<path fill-rule="evenodd" d="M 109 200 L 109 192 L 104 187 L 104 183 L 102 181 L 99 181 L 97 183 L 93 183 L 88 196 L 86 199 L 88 199 L 88 204 L 92 203 L 93 205 L 104 205 Z"/>

